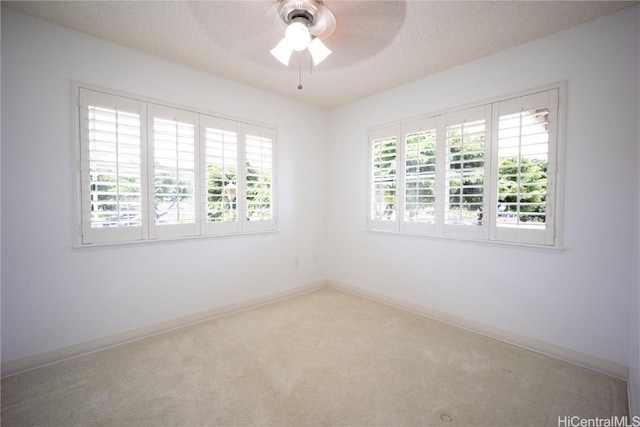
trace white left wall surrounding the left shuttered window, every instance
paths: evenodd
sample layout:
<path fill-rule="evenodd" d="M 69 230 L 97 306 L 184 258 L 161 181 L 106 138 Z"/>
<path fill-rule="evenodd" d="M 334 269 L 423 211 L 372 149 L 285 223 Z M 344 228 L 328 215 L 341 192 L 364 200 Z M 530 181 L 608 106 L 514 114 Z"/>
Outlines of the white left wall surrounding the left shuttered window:
<path fill-rule="evenodd" d="M 74 249 L 71 80 L 278 127 L 280 231 Z M 2 9 L 2 361 L 326 277 L 325 111 Z M 294 257 L 300 258 L 299 267 Z"/>

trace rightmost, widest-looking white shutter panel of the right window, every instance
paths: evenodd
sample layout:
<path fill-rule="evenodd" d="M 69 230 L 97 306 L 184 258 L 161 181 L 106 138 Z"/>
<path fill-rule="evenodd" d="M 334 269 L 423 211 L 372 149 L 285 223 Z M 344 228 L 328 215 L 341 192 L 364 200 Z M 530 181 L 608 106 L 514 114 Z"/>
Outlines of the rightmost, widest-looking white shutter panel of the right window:
<path fill-rule="evenodd" d="M 500 102 L 492 238 L 553 245 L 558 90 Z"/>

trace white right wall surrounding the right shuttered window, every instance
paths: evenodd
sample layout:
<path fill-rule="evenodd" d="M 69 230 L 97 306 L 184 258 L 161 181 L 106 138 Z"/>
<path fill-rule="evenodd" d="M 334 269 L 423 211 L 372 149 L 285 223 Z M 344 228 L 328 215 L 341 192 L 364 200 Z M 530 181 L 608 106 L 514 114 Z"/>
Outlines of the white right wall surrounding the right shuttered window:
<path fill-rule="evenodd" d="M 329 277 L 627 366 L 637 16 L 634 7 L 332 111 Z M 369 126 L 565 79 L 562 252 L 365 231 Z"/>

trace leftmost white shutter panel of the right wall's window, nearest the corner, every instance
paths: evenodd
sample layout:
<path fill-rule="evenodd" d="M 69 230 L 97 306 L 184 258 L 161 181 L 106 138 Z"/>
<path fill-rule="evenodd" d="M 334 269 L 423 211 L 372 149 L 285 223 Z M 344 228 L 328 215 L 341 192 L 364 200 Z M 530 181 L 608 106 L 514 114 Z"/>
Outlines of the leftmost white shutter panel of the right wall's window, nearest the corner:
<path fill-rule="evenodd" d="M 369 132 L 369 227 L 398 228 L 398 126 Z"/>

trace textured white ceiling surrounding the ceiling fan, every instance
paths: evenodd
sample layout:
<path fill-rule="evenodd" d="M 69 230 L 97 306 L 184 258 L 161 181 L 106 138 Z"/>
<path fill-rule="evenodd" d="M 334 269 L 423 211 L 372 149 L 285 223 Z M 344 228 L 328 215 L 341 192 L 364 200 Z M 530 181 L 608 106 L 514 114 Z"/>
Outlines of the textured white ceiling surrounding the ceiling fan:
<path fill-rule="evenodd" d="M 638 1 L 338 1 L 333 50 L 309 74 L 269 50 L 282 37 L 275 0 L 3 1 L 29 15 L 285 97 L 333 108 L 498 52 Z M 298 90 L 299 68 L 303 90 Z"/>

